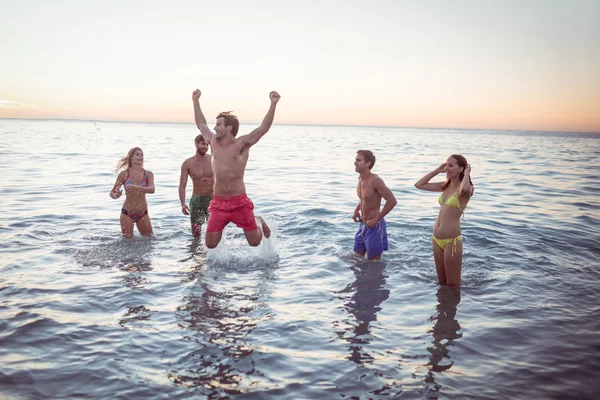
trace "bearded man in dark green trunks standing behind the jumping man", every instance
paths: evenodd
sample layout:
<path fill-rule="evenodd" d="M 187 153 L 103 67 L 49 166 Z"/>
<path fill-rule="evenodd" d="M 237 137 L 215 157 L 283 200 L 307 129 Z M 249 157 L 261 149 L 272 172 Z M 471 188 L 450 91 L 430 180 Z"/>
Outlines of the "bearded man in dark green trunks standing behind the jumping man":
<path fill-rule="evenodd" d="M 208 143 L 202 135 L 196 136 L 196 155 L 188 158 L 181 164 L 181 176 L 179 177 L 179 201 L 181 201 L 181 212 L 190 216 L 192 222 L 192 235 L 200 237 L 202 224 L 208 219 L 208 204 L 212 199 L 213 185 L 215 179 L 210 165 L 211 156 L 206 154 Z M 185 204 L 185 187 L 188 175 L 192 178 L 194 190 L 190 206 Z"/>

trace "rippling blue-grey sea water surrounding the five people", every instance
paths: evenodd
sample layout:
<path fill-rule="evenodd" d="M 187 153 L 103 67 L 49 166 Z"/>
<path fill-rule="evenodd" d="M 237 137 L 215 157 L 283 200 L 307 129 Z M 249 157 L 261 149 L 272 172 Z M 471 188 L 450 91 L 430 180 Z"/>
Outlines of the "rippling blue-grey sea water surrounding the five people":
<path fill-rule="evenodd" d="M 0 398 L 600 397 L 600 135 L 275 125 L 246 171 L 273 237 L 207 251 L 177 195 L 196 134 L 0 120 Z M 108 192 L 133 146 L 155 235 L 125 240 Z M 399 201 L 376 263 L 351 251 L 360 148 Z M 413 187 L 452 153 L 475 185 L 460 291 Z"/>

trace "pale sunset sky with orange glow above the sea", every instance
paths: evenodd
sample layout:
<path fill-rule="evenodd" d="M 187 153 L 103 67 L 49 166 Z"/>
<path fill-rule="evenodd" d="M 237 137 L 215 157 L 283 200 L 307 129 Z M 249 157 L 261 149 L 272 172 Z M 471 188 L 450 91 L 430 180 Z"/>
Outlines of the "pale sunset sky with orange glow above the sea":
<path fill-rule="evenodd" d="M 0 118 L 600 132 L 599 0 L 0 0 Z"/>

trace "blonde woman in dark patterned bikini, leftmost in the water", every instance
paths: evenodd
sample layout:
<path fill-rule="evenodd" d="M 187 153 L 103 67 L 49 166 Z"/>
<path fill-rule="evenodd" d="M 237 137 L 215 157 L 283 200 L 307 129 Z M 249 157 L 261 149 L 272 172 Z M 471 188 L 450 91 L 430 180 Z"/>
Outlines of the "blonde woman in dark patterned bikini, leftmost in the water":
<path fill-rule="evenodd" d="M 146 193 L 154 193 L 154 174 L 146 171 L 143 165 L 142 149 L 134 147 L 129 150 L 127 155 L 117 163 L 115 172 L 119 175 L 110 191 L 110 197 L 118 199 L 123 193 L 121 187 L 125 187 L 125 203 L 121 209 L 121 232 L 128 238 L 133 237 L 134 225 L 137 225 L 141 235 L 152 235 Z"/>

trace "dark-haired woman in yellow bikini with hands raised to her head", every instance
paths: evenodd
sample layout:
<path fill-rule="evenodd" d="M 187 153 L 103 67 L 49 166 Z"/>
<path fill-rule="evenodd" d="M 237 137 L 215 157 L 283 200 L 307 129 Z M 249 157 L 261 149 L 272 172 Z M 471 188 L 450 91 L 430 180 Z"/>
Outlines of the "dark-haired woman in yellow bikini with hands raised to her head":
<path fill-rule="evenodd" d="M 446 172 L 445 182 L 429 183 L 436 175 Z M 471 166 L 467 160 L 453 154 L 436 170 L 415 183 L 415 187 L 431 192 L 442 192 L 438 198 L 440 212 L 433 225 L 433 259 L 441 284 L 460 285 L 462 267 L 462 236 L 460 217 L 473 195 Z"/>

